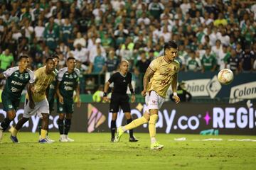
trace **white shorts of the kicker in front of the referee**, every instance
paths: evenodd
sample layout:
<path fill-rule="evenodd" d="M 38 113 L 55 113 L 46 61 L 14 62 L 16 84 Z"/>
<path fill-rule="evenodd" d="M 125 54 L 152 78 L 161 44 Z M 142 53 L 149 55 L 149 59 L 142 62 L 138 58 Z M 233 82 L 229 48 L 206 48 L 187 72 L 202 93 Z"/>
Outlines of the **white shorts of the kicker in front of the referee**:
<path fill-rule="evenodd" d="M 156 91 L 146 92 L 145 97 L 146 111 L 149 112 L 150 109 L 160 109 L 164 103 L 164 98 L 156 94 Z"/>

